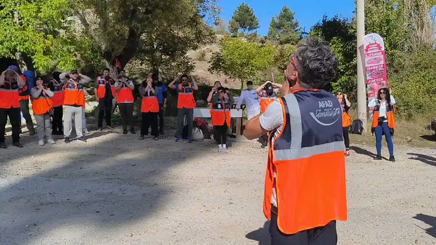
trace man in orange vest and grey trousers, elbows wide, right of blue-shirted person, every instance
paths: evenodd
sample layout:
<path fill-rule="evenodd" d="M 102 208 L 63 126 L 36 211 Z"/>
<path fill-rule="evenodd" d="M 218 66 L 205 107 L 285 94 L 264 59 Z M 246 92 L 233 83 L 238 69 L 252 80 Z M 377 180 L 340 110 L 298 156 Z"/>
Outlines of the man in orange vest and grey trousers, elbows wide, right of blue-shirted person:
<path fill-rule="evenodd" d="M 190 76 L 191 81 L 189 82 L 188 75 L 179 75 L 174 79 L 169 85 L 169 88 L 176 89 L 179 96 L 177 98 L 177 131 L 176 131 L 176 142 L 182 141 L 182 131 L 184 125 L 184 118 L 186 116 L 186 123 L 188 125 L 188 143 L 192 143 L 192 126 L 194 120 L 194 107 L 196 106 L 194 100 L 194 91 L 198 90 L 198 86 L 195 80 Z M 180 83 L 175 84 L 180 81 Z"/>

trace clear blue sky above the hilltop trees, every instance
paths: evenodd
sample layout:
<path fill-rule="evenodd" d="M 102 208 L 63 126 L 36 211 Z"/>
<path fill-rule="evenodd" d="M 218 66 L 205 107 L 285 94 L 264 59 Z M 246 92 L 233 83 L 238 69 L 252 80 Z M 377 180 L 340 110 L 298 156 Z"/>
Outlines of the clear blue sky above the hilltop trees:
<path fill-rule="evenodd" d="M 278 15 L 284 5 L 295 13 L 300 26 L 305 27 L 307 32 L 322 19 L 324 14 L 328 17 L 337 14 L 350 18 L 355 10 L 354 0 L 219 0 L 221 18 L 230 21 L 233 11 L 242 2 L 249 4 L 259 19 L 260 28 L 257 30 L 257 34 L 260 36 L 268 34 L 271 17 Z"/>

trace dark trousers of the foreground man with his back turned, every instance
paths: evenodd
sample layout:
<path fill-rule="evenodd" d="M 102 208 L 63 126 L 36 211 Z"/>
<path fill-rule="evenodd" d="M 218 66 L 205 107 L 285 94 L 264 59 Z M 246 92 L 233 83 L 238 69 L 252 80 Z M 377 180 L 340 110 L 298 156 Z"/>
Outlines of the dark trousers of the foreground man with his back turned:
<path fill-rule="evenodd" d="M 287 235 L 277 227 L 277 215 L 271 212 L 269 224 L 271 245 L 336 245 L 336 221 L 330 221 L 327 225 L 300 231 Z"/>

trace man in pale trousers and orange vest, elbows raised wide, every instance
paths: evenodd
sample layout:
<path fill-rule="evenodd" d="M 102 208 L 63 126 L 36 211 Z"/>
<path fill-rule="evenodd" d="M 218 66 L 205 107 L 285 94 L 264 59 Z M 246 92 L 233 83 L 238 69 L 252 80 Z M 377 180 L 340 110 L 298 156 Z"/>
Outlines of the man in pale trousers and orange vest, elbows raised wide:
<path fill-rule="evenodd" d="M 67 78 L 69 77 L 69 78 Z M 85 105 L 84 85 L 91 81 L 91 78 L 79 74 L 77 70 L 68 73 L 61 73 L 60 80 L 64 84 L 65 90 L 65 117 L 64 117 L 64 141 L 70 143 L 70 135 L 73 130 L 73 119 L 76 128 L 77 141 L 86 142 L 82 132 L 82 113 Z"/>

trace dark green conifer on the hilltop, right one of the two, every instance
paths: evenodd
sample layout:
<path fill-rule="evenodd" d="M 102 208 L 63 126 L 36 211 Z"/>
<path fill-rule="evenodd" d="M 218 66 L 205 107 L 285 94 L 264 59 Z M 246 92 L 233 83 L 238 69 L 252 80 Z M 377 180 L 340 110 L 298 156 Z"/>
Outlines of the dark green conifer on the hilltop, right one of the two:
<path fill-rule="evenodd" d="M 300 24 L 294 20 L 294 12 L 283 6 L 275 18 L 272 17 L 268 37 L 280 44 L 297 44 L 301 39 Z"/>

